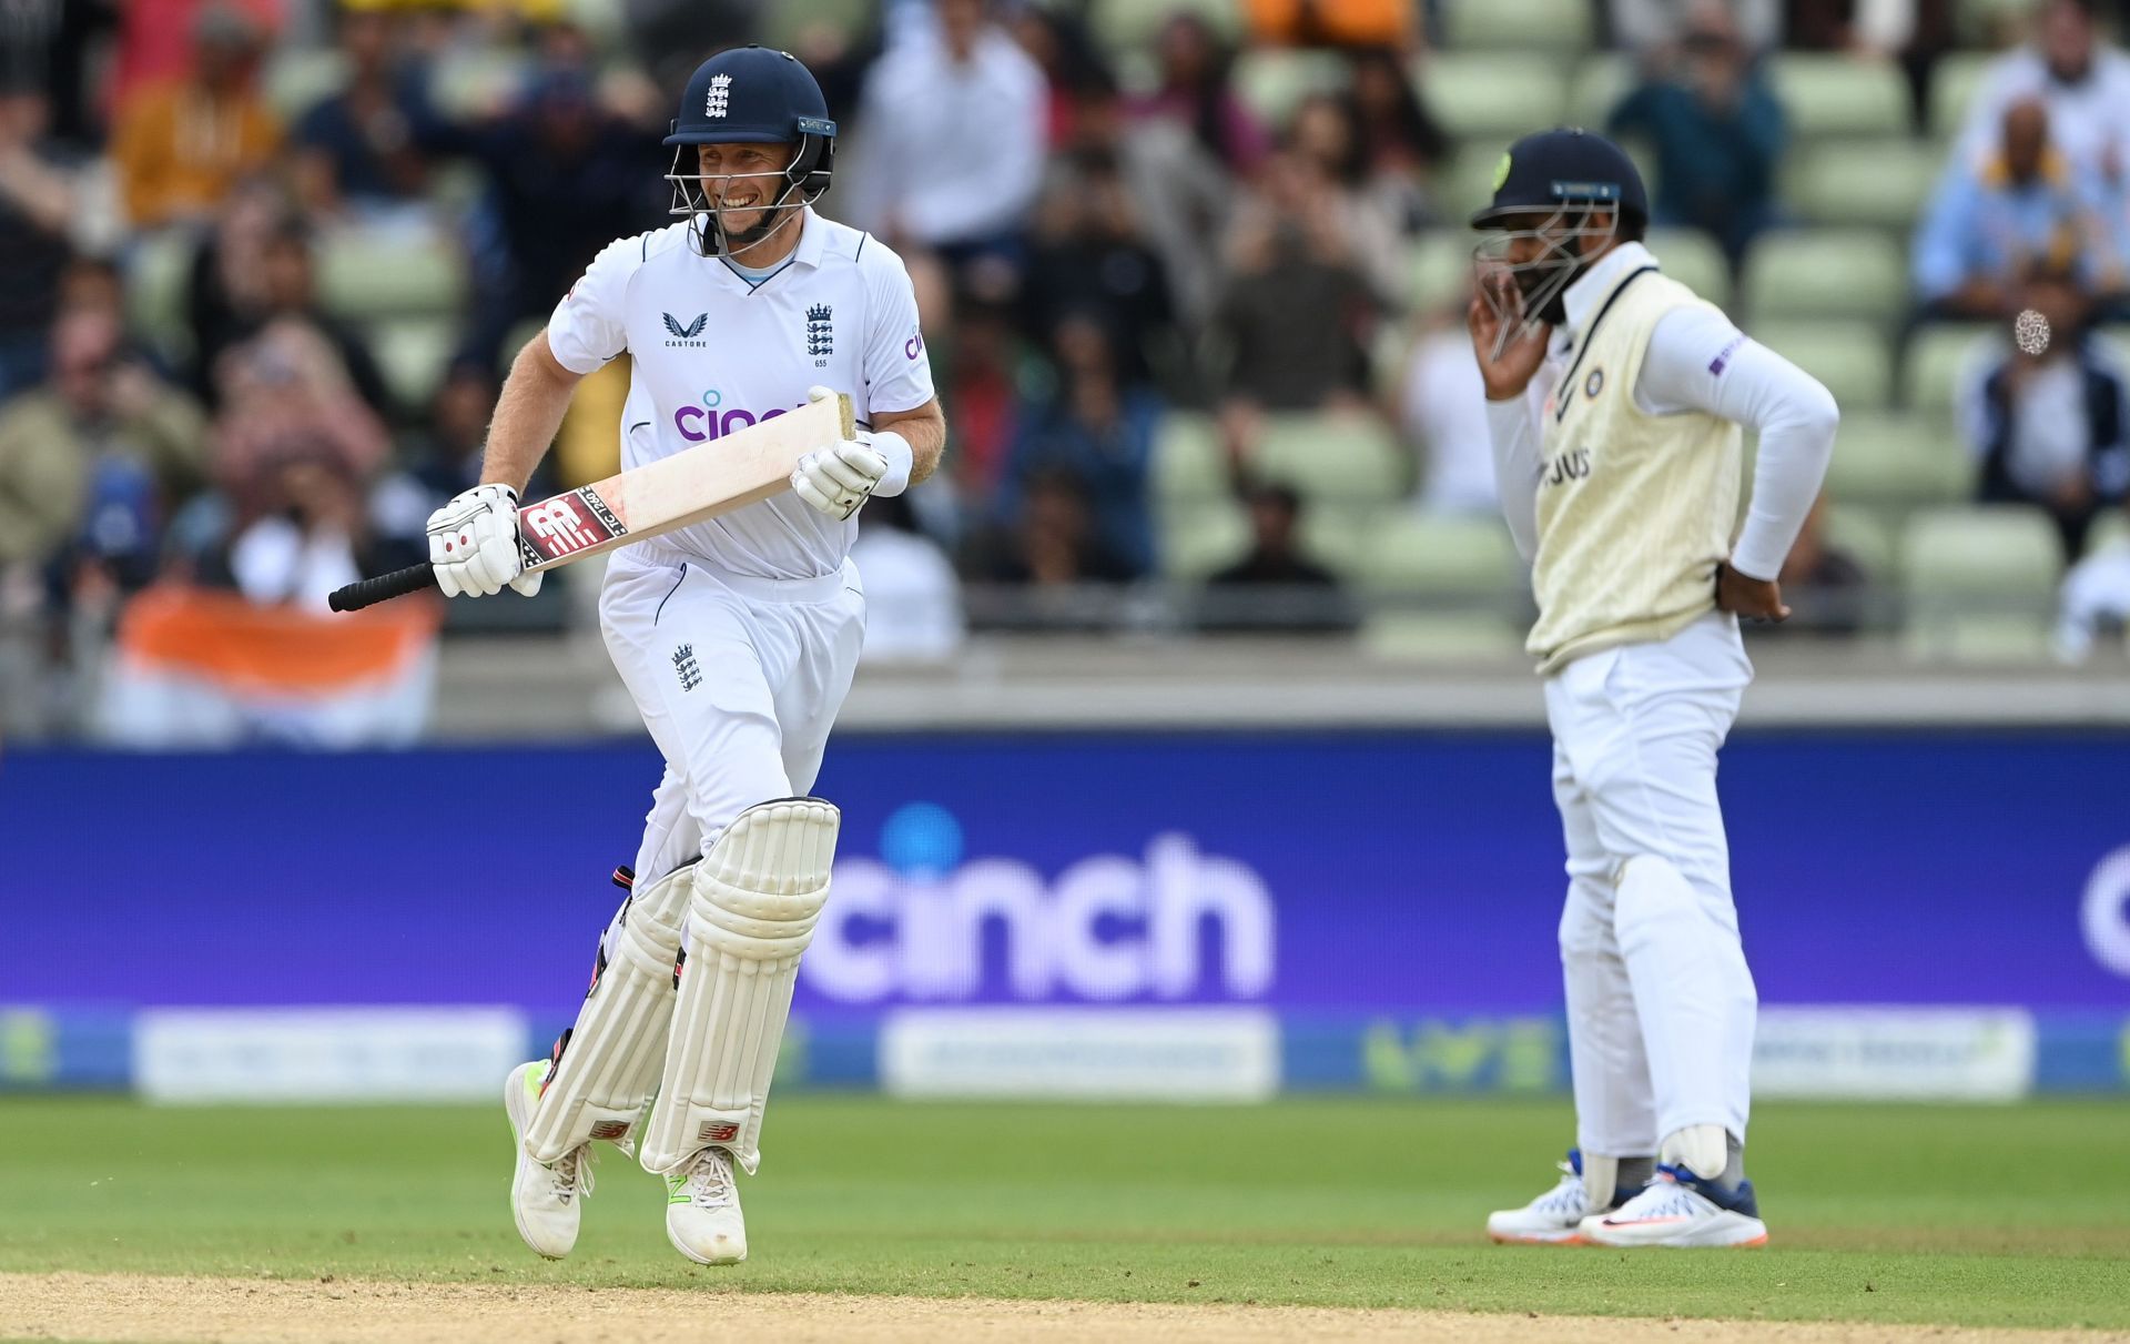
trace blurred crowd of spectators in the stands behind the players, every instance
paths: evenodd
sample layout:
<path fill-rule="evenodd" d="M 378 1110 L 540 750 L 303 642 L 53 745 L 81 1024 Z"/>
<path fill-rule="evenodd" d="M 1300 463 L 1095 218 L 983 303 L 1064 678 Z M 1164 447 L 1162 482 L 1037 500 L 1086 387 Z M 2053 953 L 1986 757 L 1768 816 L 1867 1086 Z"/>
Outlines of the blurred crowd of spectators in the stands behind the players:
<path fill-rule="evenodd" d="M 1248 524 L 1184 620 L 1353 628 L 1344 577 L 1306 545 L 1312 501 L 1257 471 L 1265 426 L 1365 422 L 1402 445 L 1414 511 L 1491 513 L 1463 296 L 1414 305 L 1408 258 L 1463 226 L 1455 158 L 1500 147 L 1444 128 L 1436 4 L 1210 9 L 9 0 L 0 626 L 64 662 L 68 630 L 158 579 L 315 607 L 420 558 L 428 509 L 475 479 L 515 345 L 601 245 L 667 222 L 658 136 L 686 72 L 765 40 L 807 60 L 843 126 L 822 209 L 912 266 L 952 430 L 937 486 L 867 511 L 875 588 L 903 594 L 875 611 L 882 648 L 937 656 L 965 622 L 1029 613 L 1099 624 L 1044 590 L 1172 573 L 1154 471 L 1178 413 L 1214 426 Z M 1120 13 L 1144 32 L 1125 51 L 1097 34 Z M 1704 232 L 1734 271 L 1789 224 L 1770 55 L 1898 62 L 1921 134 L 1938 58 L 1977 23 L 2004 45 L 1917 222 L 1908 326 L 2049 319 L 2045 349 L 1972 373 L 1960 422 L 1983 498 L 2047 507 L 2066 556 L 2130 490 L 2124 375 L 2087 339 L 2130 292 L 2130 58 L 2109 19 L 2083 0 L 1591 13 L 1632 58 L 1608 130 L 1651 166 L 1655 224 Z M 1331 51 L 1344 75 L 1267 117 L 1233 77 L 1263 45 Z M 358 262 L 326 275 L 334 256 Z M 383 349 L 349 313 L 439 256 L 420 283 L 449 290 L 447 339 Z M 175 326 L 143 322 L 155 296 Z M 596 445 L 601 426 L 567 432 Z M 556 458 L 537 488 L 599 462 Z M 1866 581 L 1817 532 L 1793 571 Z M 1314 599 L 1212 601 L 1252 588 Z"/>

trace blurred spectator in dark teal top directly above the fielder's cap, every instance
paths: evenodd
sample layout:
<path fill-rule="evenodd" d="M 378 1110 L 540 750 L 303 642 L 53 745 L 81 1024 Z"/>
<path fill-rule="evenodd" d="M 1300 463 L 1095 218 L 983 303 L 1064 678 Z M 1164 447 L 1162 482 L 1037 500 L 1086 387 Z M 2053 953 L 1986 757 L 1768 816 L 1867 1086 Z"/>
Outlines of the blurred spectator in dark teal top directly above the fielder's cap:
<path fill-rule="evenodd" d="M 1608 126 L 1657 155 L 1655 224 L 1710 234 L 1734 268 L 1774 224 L 1789 132 L 1727 4 L 1689 13 L 1674 70 L 1627 94 Z"/>

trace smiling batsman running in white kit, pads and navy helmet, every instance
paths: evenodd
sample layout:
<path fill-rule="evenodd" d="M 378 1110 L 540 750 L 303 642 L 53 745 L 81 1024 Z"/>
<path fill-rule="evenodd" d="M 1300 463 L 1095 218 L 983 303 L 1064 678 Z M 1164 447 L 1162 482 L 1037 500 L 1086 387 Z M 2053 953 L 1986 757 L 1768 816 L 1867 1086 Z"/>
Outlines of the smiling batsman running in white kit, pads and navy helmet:
<path fill-rule="evenodd" d="M 679 222 L 611 243 L 562 298 L 503 388 L 484 483 L 428 532 L 445 594 L 537 592 L 518 490 L 577 379 L 624 351 L 624 466 L 839 390 L 865 426 L 809 454 L 790 492 L 613 554 L 601 630 L 665 777 L 575 1027 L 505 1086 L 511 1210 L 532 1250 L 575 1246 L 605 1140 L 665 1176 L 667 1238 L 716 1265 L 748 1255 L 733 1167 L 760 1159 L 799 954 L 829 895 L 839 814 L 805 794 L 865 635 L 854 515 L 933 473 L 946 420 L 901 258 L 812 211 L 835 124 L 799 60 L 746 47 L 703 62 L 667 145 Z"/>

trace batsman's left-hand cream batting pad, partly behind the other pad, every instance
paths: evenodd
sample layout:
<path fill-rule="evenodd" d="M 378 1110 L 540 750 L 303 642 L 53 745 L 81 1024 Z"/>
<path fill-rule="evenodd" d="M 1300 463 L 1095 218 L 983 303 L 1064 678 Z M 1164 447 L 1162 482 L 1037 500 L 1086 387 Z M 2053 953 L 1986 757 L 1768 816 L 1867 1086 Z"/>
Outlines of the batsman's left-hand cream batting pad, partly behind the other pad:
<path fill-rule="evenodd" d="M 552 1163 L 590 1140 L 630 1148 L 673 1025 L 673 963 L 690 890 L 694 865 L 628 897 L 613 956 L 584 997 L 569 1046 L 526 1125 L 524 1146 L 535 1161 Z"/>

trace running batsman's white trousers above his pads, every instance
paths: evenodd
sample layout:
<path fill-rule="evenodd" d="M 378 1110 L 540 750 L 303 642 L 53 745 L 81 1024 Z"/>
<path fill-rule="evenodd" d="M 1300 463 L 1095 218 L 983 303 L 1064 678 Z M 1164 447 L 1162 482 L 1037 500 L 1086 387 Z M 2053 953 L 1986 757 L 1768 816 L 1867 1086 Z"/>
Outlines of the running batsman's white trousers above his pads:
<path fill-rule="evenodd" d="M 671 552 L 652 552 L 667 558 Z M 754 579 L 673 556 L 607 571 L 607 654 L 665 756 L 637 850 L 652 882 L 754 803 L 814 788 L 865 643 L 858 569 Z"/>

